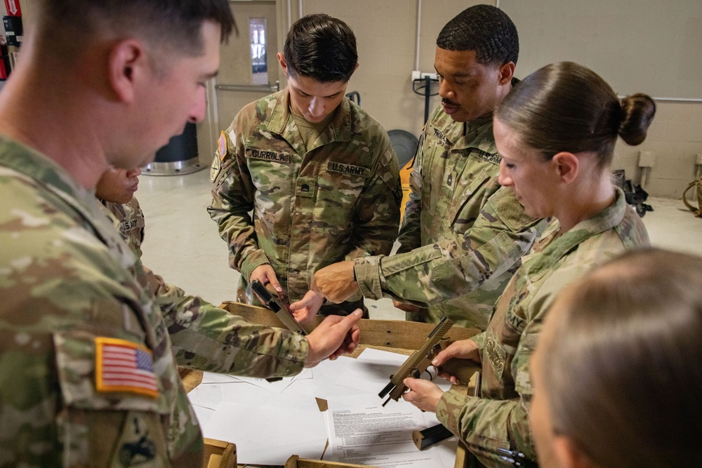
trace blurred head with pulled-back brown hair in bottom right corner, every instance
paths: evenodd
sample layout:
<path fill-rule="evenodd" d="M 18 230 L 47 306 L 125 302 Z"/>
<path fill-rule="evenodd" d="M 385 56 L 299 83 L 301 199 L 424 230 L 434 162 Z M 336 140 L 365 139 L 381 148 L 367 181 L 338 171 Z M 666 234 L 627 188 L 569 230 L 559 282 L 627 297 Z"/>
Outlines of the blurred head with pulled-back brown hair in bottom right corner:
<path fill-rule="evenodd" d="M 554 302 L 531 376 L 541 467 L 702 467 L 702 258 L 638 250 Z"/>

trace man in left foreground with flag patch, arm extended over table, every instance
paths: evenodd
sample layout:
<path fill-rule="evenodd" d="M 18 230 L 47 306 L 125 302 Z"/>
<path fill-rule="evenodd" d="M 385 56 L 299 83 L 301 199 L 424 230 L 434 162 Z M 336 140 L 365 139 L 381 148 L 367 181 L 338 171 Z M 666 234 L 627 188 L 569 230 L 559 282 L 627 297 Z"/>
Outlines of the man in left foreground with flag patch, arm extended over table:
<path fill-rule="evenodd" d="M 197 467 L 203 441 L 176 363 L 292 375 L 353 347 L 359 314 L 301 337 L 154 300 L 93 189 L 203 118 L 231 11 L 78 3 L 41 4 L 0 94 L 0 465 Z"/>

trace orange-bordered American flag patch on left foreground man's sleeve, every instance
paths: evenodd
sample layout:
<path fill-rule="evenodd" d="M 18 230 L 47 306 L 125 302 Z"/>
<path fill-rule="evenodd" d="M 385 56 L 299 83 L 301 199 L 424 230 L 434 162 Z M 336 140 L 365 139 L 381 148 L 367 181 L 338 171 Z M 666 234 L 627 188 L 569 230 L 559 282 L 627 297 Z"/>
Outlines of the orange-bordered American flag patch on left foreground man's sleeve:
<path fill-rule="evenodd" d="M 151 350 L 128 340 L 95 337 L 95 388 L 156 398 L 159 386 Z"/>

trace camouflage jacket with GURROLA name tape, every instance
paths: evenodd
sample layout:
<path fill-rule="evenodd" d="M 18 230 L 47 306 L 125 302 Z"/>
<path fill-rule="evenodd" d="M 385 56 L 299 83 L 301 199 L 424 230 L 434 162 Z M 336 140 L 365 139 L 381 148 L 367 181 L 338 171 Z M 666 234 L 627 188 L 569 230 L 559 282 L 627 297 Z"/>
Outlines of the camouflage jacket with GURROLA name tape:
<path fill-rule="evenodd" d="M 402 187 L 388 134 L 344 99 L 305 149 L 289 100 L 286 88 L 241 109 L 213 161 L 208 211 L 241 272 L 242 301 L 259 265 L 270 263 L 294 301 L 317 269 L 388 254 L 397 238 Z"/>

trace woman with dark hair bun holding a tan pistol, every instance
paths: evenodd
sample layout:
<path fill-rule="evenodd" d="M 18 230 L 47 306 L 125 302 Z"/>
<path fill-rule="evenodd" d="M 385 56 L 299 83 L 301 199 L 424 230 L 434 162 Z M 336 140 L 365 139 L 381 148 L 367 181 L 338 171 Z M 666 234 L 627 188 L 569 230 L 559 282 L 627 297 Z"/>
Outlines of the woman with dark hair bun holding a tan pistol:
<path fill-rule="evenodd" d="M 551 218 L 550 225 L 522 258 L 487 330 L 454 342 L 434 361 L 436 366 L 452 357 L 477 361 L 482 396 L 444 393 L 412 378 L 405 381 L 410 391 L 404 395 L 418 408 L 435 411 L 488 467 L 504 466 L 505 456 L 536 460 L 529 357 L 557 293 L 595 265 L 649 245 L 640 218 L 612 185 L 609 166 L 618 136 L 638 145 L 655 112 L 647 95 L 620 101 L 600 76 L 572 62 L 534 72 L 496 109 L 500 184 L 512 187 L 529 215 Z"/>

